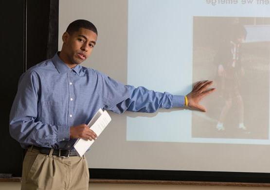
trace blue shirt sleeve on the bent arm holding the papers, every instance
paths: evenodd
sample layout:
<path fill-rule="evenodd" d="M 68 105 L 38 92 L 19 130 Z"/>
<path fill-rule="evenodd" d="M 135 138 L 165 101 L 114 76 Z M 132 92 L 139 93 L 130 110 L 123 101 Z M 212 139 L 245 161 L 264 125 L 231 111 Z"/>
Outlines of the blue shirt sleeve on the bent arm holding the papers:
<path fill-rule="evenodd" d="M 69 140 L 69 130 L 65 126 L 43 124 L 37 120 L 39 80 L 34 71 L 24 73 L 18 83 L 18 92 L 10 112 L 10 134 L 22 146 L 51 145 Z"/>

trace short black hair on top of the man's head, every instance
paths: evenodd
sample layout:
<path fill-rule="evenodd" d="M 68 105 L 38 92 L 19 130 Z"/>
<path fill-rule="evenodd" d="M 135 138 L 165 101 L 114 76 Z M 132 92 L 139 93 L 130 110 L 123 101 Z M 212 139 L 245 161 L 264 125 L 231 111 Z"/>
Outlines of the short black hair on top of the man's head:
<path fill-rule="evenodd" d="M 97 29 L 93 23 L 91 23 L 88 20 L 75 20 L 67 28 L 67 31 L 70 35 L 72 35 L 73 32 L 79 31 L 80 28 L 88 29 L 90 31 L 93 31 L 97 34 Z"/>

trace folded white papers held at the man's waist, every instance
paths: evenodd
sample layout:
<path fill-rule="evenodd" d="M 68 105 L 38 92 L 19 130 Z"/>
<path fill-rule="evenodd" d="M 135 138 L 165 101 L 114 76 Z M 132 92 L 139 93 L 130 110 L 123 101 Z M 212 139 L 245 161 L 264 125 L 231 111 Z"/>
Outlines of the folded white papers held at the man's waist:
<path fill-rule="evenodd" d="M 99 109 L 99 111 L 96 112 L 94 117 L 89 122 L 88 126 L 92 131 L 96 133 L 97 136 L 101 134 L 101 132 L 105 129 L 105 127 L 108 126 L 109 122 L 111 121 L 111 118 L 107 111 L 102 111 Z M 84 153 L 89 149 L 89 147 L 94 143 L 94 140 L 84 140 L 84 139 L 78 139 L 76 143 L 74 144 L 74 148 L 77 151 L 77 153 L 82 157 Z"/>

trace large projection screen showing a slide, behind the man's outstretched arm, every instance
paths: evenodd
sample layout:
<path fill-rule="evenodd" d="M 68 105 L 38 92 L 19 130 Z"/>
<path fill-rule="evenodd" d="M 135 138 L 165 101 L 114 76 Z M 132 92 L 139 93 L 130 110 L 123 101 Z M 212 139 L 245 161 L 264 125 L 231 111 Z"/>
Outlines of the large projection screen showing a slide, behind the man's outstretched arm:
<path fill-rule="evenodd" d="M 109 112 L 90 168 L 270 172 L 270 4 L 264 0 L 59 0 L 61 36 L 75 19 L 98 29 L 83 66 L 124 84 L 186 95 L 216 92 L 207 112 Z"/>

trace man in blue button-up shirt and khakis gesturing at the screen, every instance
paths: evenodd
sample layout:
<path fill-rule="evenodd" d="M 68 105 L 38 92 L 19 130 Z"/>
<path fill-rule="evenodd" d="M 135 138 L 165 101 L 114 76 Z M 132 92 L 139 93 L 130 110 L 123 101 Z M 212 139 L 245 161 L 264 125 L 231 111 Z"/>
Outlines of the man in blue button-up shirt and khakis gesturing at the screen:
<path fill-rule="evenodd" d="M 123 85 L 79 64 L 91 54 L 96 27 L 75 20 L 62 36 L 54 58 L 28 69 L 20 78 L 10 114 L 10 133 L 23 148 L 22 190 L 88 190 L 84 157 L 76 155 L 78 138 L 96 139 L 87 127 L 100 108 L 116 113 L 154 112 L 184 105 L 205 111 L 200 99 L 214 89 L 212 81 L 198 82 L 187 96 Z"/>

